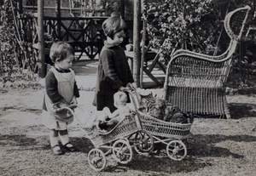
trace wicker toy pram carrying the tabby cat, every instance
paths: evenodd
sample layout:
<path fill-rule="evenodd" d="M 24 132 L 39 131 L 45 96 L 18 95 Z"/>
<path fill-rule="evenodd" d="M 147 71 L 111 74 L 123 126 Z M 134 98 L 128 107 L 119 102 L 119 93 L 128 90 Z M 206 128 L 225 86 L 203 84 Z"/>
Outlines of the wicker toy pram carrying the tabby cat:
<path fill-rule="evenodd" d="M 166 145 L 167 155 L 175 161 L 181 161 L 187 156 L 187 150 L 195 145 L 195 137 L 190 133 L 192 123 L 165 122 L 160 119 L 148 116 L 143 112 L 136 90 L 133 90 L 137 102 L 133 99 L 133 104 L 140 118 L 142 129 L 150 133 L 154 139 L 154 144 L 162 143 Z M 138 108 L 137 108 L 138 106 Z"/>

